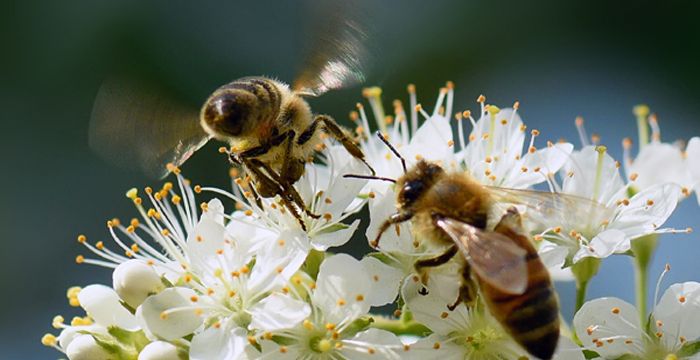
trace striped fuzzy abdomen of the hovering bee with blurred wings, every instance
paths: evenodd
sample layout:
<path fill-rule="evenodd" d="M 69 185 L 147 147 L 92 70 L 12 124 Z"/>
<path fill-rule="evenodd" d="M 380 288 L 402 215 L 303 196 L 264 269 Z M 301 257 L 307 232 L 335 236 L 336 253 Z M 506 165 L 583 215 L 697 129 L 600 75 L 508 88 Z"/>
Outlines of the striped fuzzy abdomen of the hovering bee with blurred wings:
<path fill-rule="evenodd" d="M 232 81 L 209 96 L 201 112 L 207 132 L 219 139 L 248 136 L 265 137 L 280 114 L 280 84 L 264 77 Z"/>

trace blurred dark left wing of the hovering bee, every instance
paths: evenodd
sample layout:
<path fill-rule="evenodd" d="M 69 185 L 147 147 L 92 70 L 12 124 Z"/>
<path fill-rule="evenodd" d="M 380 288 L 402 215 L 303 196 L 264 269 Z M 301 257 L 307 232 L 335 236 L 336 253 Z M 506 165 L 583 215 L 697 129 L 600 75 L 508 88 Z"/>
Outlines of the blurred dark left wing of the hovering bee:
<path fill-rule="evenodd" d="M 181 165 L 209 138 L 196 109 L 143 84 L 109 79 L 95 98 L 90 147 L 122 168 L 162 178 L 168 174 L 166 164 Z"/>

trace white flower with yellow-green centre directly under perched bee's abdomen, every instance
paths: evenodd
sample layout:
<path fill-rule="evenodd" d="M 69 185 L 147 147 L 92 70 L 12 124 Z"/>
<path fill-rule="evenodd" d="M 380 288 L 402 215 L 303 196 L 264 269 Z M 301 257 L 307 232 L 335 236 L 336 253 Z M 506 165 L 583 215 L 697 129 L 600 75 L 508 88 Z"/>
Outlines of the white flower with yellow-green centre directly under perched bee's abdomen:
<path fill-rule="evenodd" d="M 410 346 L 411 359 L 521 359 L 527 352 L 520 347 L 483 305 L 468 308 L 459 304 L 453 311 L 447 306 L 458 296 L 460 279 L 445 274 L 430 274 L 427 295 L 417 277 L 407 280 L 403 298 L 414 318 L 433 334 Z M 583 359 L 571 341 L 560 337 L 554 359 Z"/>

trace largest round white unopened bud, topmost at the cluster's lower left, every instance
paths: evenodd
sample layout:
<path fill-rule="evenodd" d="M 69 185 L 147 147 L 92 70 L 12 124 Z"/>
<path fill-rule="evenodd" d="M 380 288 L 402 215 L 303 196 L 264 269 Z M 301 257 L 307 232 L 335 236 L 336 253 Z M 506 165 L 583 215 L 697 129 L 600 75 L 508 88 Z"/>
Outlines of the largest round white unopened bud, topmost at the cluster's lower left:
<path fill-rule="evenodd" d="M 140 260 L 129 260 L 117 266 L 112 273 L 114 290 L 134 309 L 164 288 L 153 267 Z"/>

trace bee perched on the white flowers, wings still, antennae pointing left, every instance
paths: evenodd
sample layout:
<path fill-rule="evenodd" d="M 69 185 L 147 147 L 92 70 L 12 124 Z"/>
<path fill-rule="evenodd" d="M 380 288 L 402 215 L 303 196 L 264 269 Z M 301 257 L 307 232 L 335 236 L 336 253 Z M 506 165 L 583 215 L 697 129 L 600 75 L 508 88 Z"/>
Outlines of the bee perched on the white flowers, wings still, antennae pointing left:
<path fill-rule="evenodd" d="M 462 302 L 473 305 L 480 290 L 491 314 L 516 342 L 538 358 L 551 359 L 559 339 L 559 302 L 546 267 L 525 235 L 523 218 L 511 205 L 525 206 L 533 222 L 557 214 L 606 216 L 610 210 L 576 196 L 483 186 L 467 173 L 448 173 L 424 160 L 406 170 L 405 160 L 379 137 L 401 159 L 404 175 L 397 180 L 345 175 L 391 181 L 398 189 L 398 212 L 380 226 L 372 246 L 379 246 L 392 225 L 411 221 L 416 237 L 448 246 L 439 256 L 417 261 L 419 273 L 425 275 L 426 268 L 445 264 L 458 253 L 466 260 L 458 298 L 447 306 L 450 311 Z M 504 204 L 510 206 L 505 214 Z M 427 289 L 420 293 L 426 295 Z"/>

